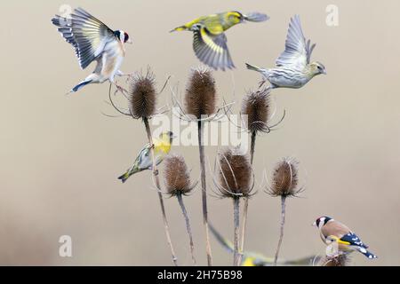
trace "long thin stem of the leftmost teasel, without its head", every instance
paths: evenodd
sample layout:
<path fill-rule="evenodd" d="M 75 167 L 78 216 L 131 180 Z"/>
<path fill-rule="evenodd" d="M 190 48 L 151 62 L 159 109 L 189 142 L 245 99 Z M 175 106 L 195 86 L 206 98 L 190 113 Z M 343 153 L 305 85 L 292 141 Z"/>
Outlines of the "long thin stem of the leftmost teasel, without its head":
<path fill-rule="evenodd" d="M 165 235 L 168 241 L 168 245 L 170 246 L 171 249 L 171 255 L 172 255 L 172 262 L 175 266 L 178 266 L 177 262 L 177 257 L 175 255 L 175 250 L 172 246 L 172 239 L 171 239 L 171 234 L 170 234 L 170 227 L 168 225 L 168 219 L 165 214 L 165 206 L 164 206 L 164 199 L 163 199 L 163 194 L 161 193 L 161 185 L 160 185 L 160 178 L 158 177 L 158 170 L 156 169 L 156 159 L 155 159 L 155 154 L 154 154 L 154 144 L 153 144 L 153 138 L 151 136 L 151 130 L 150 130 L 150 125 L 148 124 L 148 118 L 143 117 L 143 122 L 146 127 L 146 132 L 148 134 L 148 143 L 151 146 L 150 148 L 150 153 L 151 153 L 151 159 L 153 162 L 152 165 L 152 170 L 153 170 L 153 176 L 156 181 L 156 187 L 157 187 L 157 193 L 158 193 L 158 199 L 160 201 L 160 206 L 161 206 L 161 213 L 163 215 L 163 221 L 164 221 L 164 230 L 165 230 Z"/>

